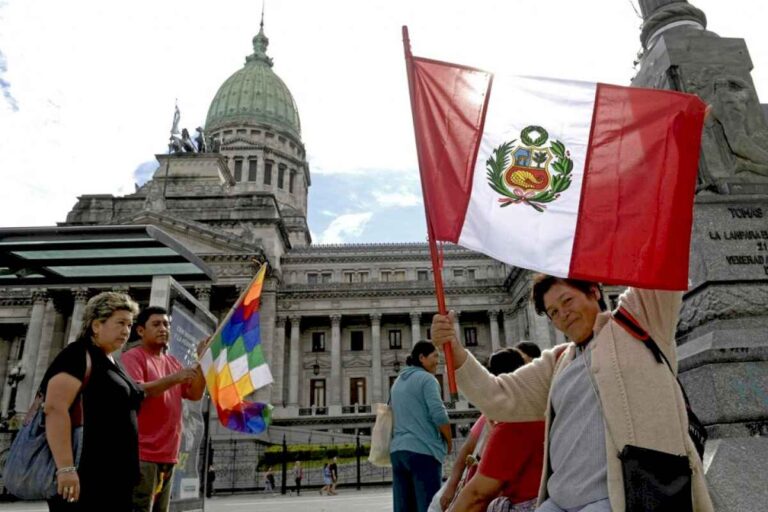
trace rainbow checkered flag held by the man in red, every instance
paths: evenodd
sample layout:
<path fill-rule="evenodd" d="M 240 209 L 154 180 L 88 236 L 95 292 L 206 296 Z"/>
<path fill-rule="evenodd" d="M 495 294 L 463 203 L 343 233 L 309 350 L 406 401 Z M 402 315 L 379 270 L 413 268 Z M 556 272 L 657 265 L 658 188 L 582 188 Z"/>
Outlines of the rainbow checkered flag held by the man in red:
<path fill-rule="evenodd" d="M 272 382 L 272 373 L 264 360 L 259 325 L 261 289 L 266 273 L 265 263 L 213 334 L 200 358 L 219 421 L 231 430 L 249 434 L 263 432 L 272 416 L 271 405 L 245 399 Z"/>

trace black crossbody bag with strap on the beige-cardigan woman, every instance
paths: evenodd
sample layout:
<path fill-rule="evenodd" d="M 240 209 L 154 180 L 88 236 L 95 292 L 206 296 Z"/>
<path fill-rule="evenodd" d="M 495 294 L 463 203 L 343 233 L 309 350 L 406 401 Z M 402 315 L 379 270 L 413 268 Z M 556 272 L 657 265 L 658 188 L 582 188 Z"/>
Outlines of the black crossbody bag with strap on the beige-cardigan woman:
<path fill-rule="evenodd" d="M 614 311 L 613 318 L 634 338 L 645 343 L 656 361 L 666 363 L 674 374 L 672 365 L 659 346 L 631 316 L 619 308 Z M 691 409 L 680 379 L 677 376 L 675 379 L 685 399 L 688 434 L 702 457 L 707 431 Z M 691 468 L 687 456 L 626 445 L 619 453 L 619 459 L 624 477 L 626 512 L 693 512 Z"/>

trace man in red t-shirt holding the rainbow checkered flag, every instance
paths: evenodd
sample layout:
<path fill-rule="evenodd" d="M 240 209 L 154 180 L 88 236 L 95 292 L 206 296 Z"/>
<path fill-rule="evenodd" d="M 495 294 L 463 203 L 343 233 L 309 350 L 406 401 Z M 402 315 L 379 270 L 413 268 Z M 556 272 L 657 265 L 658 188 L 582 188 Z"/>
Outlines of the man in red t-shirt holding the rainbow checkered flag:
<path fill-rule="evenodd" d="M 165 353 L 171 333 L 165 308 L 150 306 L 139 313 L 136 333 L 141 344 L 121 357 L 146 395 L 139 410 L 141 480 L 133 490 L 133 511 L 167 512 L 181 444 L 181 400 L 200 400 L 205 379 L 199 365 L 184 368 Z"/>

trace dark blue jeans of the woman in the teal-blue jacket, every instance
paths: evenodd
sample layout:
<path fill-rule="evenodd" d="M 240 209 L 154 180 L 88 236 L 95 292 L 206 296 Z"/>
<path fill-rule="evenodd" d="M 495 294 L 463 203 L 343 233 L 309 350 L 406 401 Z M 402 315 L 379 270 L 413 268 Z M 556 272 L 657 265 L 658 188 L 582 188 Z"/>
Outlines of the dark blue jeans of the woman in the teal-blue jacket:
<path fill-rule="evenodd" d="M 392 460 L 394 512 L 427 512 L 440 489 L 443 465 L 431 455 L 397 451 Z"/>

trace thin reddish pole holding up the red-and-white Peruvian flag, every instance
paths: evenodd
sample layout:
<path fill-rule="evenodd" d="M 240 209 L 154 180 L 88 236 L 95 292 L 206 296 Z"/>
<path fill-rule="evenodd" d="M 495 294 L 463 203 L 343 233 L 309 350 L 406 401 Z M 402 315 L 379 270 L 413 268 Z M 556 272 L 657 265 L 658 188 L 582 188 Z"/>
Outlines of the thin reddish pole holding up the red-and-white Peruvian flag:
<path fill-rule="evenodd" d="M 437 248 L 437 241 L 435 240 L 435 233 L 432 227 L 432 221 L 429 216 L 429 201 L 427 195 L 424 193 L 424 176 L 422 174 L 422 154 L 419 146 L 419 133 L 416 125 L 416 113 L 414 110 L 414 91 L 413 91 L 413 55 L 411 54 L 411 40 L 408 37 L 408 27 L 403 26 L 403 49 L 405 50 L 405 66 L 408 75 L 408 91 L 411 97 L 411 115 L 413 116 L 413 130 L 416 136 L 416 154 L 419 160 L 419 177 L 421 178 L 421 193 L 424 197 L 424 213 L 427 219 L 427 237 L 429 239 L 429 254 L 432 258 L 432 272 L 435 277 L 435 296 L 437 297 L 437 310 L 441 315 L 448 313 L 445 307 L 445 289 L 443 288 L 443 262 L 440 258 L 440 254 Z M 457 334 L 458 335 L 458 334 Z M 453 349 L 450 343 L 443 345 L 443 352 L 445 355 L 445 367 L 448 373 L 448 389 L 451 392 L 451 400 L 456 401 L 459 399 L 459 391 L 456 387 L 456 374 L 455 366 L 453 363 Z"/>

